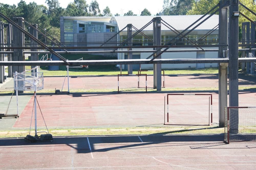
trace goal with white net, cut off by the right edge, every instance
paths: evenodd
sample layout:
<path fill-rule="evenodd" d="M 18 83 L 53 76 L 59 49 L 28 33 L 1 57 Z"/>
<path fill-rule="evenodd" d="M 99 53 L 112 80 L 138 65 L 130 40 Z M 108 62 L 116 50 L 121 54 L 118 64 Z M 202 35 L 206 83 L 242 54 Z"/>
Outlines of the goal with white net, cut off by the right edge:
<path fill-rule="evenodd" d="M 256 107 L 225 107 L 224 142 L 256 140 Z"/>

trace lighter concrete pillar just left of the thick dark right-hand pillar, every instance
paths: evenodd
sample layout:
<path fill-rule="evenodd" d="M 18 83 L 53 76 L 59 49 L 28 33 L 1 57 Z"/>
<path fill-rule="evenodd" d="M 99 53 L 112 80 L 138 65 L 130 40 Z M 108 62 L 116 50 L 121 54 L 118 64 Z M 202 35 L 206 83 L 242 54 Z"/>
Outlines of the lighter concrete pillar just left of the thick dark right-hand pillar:
<path fill-rule="evenodd" d="M 219 11 L 219 44 L 228 43 L 228 8 L 221 8 Z M 219 47 L 218 57 L 227 57 L 227 46 Z M 227 79 L 228 63 L 219 64 L 219 127 L 225 125 L 225 110 L 228 104 L 228 79 Z"/>

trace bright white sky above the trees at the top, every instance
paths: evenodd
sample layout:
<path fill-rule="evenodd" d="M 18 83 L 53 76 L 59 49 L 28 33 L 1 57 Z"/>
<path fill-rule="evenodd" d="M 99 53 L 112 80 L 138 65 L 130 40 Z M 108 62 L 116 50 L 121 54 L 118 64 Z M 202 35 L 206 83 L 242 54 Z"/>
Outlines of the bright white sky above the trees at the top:
<path fill-rule="evenodd" d="M 27 4 L 29 2 L 33 2 L 33 0 L 24 0 Z M 9 4 L 9 5 L 17 5 L 20 0 L 0 0 L 0 3 Z M 37 4 L 46 5 L 45 0 L 34 0 Z M 60 6 L 66 8 L 70 2 L 74 2 L 72 0 L 59 0 Z M 86 1 L 87 4 L 90 5 L 91 0 Z M 101 12 L 103 9 L 108 6 L 110 8 L 111 13 L 113 14 L 121 14 L 132 10 L 134 14 L 140 15 L 141 11 L 144 8 L 147 8 L 152 15 L 155 15 L 163 8 L 163 0 L 97 0 L 99 3 L 99 7 Z"/>

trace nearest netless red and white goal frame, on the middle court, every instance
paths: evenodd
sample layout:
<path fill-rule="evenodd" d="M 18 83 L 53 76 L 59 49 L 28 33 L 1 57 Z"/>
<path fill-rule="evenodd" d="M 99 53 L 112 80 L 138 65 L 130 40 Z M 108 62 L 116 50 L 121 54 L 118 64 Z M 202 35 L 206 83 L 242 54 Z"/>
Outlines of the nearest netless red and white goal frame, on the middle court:
<path fill-rule="evenodd" d="M 164 100 L 164 125 L 166 125 L 166 123 L 169 123 L 169 96 L 177 96 L 177 95 L 189 95 L 189 96 L 209 96 L 210 97 L 210 101 L 209 101 L 209 123 L 208 126 L 210 125 L 210 123 L 212 123 L 212 94 L 190 94 L 190 93 L 171 93 L 171 94 L 167 94 L 167 122 L 165 122 L 165 100 Z"/>

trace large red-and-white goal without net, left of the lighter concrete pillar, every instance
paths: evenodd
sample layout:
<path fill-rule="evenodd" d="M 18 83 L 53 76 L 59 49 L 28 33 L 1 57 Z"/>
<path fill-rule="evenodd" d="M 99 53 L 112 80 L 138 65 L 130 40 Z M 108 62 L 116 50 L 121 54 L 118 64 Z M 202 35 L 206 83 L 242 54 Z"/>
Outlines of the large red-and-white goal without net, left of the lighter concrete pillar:
<path fill-rule="evenodd" d="M 173 94 L 167 94 L 167 122 L 165 122 L 165 119 L 164 119 L 164 124 L 169 124 L 169 119 L 170 119 L 170 115 L 169 115 L 169 109 L 170 109 L 170 97 L 171 96 L 209 96 L 209 122 L 207 125 L 210 125 L 210 123 L 212 123 L 212 94 L 187 94 L 187 93 L 184 93 L 184 94 L 176 94 L 176 93 L 173 93 Z M 184 99 L 184 103 L 186 103 L 187 99 Z M 164 102 L 165 103 L 165 102 Z M 165 112 L 164 112 L 164 117 L 165 117 Z"/>

